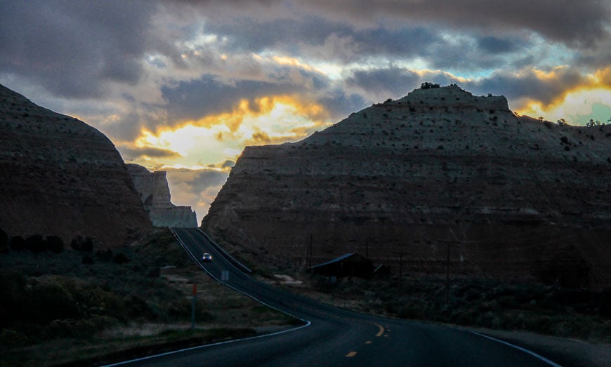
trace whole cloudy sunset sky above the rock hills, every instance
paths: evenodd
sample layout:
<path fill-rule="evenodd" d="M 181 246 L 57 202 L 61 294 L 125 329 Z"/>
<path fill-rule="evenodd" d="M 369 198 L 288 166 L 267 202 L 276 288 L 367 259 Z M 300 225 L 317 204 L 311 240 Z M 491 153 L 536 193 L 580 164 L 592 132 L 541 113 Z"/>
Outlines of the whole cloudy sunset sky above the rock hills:
<path fill-rule="evenodd" d="M 245 146 L 424 81 L 611 122 L 610 19 L 611 0 L 0 0 L 0 84 L 168 171 L 201 220 Z"/>

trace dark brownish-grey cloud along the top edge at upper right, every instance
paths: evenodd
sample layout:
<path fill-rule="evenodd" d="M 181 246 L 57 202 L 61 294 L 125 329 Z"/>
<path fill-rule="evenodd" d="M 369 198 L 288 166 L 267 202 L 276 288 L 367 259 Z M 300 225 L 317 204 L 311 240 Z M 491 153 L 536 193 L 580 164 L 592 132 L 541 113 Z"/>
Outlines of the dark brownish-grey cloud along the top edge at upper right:
<path fill-rule="evenodd" d="M 387 18 L 462 29 L 527 28 L 573 46 L 593 46 L 607 34 L 605 27 L 611 13 L 607 0 L 313 0 L 299 6 L 334 20 L 365 25 Z"/>

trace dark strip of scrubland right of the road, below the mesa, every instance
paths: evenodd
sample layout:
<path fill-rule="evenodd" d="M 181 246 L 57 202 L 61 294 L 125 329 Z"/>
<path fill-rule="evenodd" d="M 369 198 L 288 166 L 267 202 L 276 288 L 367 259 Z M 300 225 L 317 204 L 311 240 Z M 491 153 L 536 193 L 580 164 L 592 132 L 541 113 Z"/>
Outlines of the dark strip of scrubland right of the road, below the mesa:
<path fill-rule="evenodd" d="M 611 343 L 611 289 L 591 292 L 493 279 L 339 279 L 298 276 L 284 286 L 320 302 L 359 312 L 508 331 L 531 331 Z M 279 283 L 282 286 L 282 283 Z"/>

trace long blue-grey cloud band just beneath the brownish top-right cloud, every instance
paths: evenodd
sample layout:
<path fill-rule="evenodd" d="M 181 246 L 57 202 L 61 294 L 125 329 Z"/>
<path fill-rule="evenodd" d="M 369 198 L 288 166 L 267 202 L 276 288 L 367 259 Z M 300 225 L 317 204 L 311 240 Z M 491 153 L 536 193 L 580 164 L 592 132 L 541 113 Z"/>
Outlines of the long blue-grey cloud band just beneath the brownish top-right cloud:
<path fill-rule="evenodd" d="M 532 46 L 527 35 L 462 37 L 443 35 L 445 27 L 401 24 L 359 27 L 327 18 L 304 16 L 268 22 L 256 18 L 211 19 L 204 32 L 225 39 L 225 50 L 260 53 L 274 50 L 302 58 L 336 62 L 361 62 L 384 57 L 421 58 L 431 67 L 480 70 L 502 67 L 506 57 Z"/>

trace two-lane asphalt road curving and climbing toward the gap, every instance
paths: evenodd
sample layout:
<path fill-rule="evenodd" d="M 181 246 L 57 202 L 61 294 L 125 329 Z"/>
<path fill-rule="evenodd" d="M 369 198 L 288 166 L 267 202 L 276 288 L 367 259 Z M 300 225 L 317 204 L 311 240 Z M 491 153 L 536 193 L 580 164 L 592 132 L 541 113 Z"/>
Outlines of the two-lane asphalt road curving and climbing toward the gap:
<path fill-rule="evenodd" d="M 174 229 L 211 276 L 306 321 L 291 331 L 207 345 L 122 363 L 129 366 L 560 366 L 545 356 L 447 326 L 350 312 L 256 281 L 232 265 L 197 229 Z"/>

